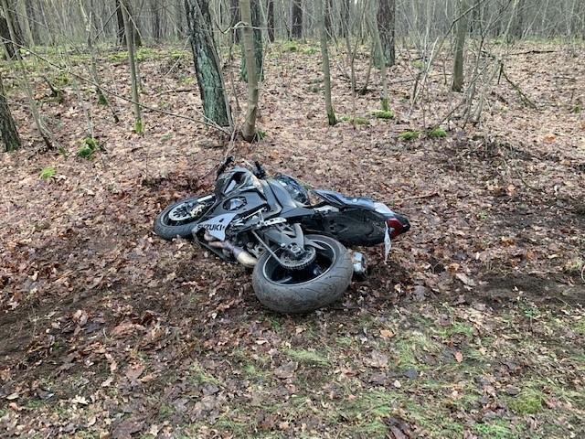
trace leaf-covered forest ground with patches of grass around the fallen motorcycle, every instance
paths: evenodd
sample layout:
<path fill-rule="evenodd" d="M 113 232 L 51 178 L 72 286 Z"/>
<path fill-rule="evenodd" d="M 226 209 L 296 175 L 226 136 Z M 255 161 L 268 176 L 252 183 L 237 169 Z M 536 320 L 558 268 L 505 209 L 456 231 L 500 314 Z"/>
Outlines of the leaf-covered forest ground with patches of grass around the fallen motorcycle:
<path fill-rule="evenodd" d="M 99 66 L 128 96 L 123 56 Z M 58 151 L 42 151 L 5 75 L 26 146 L 0 155 L 0 436 L 585 435 L 583 46 L 512 48 L 507 80 L 477 84 L 481 123 L 407 141 L 399 134 L 460 111 L 448 58 L 422 82 L 417 54 L 400 50 L 395 116 L 383 120 L 377 70 L 354 111 L 334 54 L 342 121 L 330 127 L 319 49 L 283 43 L 267 58 L 257 145 L 171 115 L 198 118 L 184 49 L 141 51 L 142 135 L 121 97 L 97 105 L 72 74 L 87 76 L 88 60 L 71 57 L 61 70 L 27 60 Z M 367 58 L 356 62 L 363 84 Z M 244 84 L 229 83 L 245 105 Z M 90 160 L 78 155 L 87 115 L 101 144 Z M 361 249 L 370 273 L 340 302 L 274 314 L 245 269 L 153 232 L 158 212 L 207 192 L 231 154 L 384 201 L 412 230 L 388 263 Z"/>

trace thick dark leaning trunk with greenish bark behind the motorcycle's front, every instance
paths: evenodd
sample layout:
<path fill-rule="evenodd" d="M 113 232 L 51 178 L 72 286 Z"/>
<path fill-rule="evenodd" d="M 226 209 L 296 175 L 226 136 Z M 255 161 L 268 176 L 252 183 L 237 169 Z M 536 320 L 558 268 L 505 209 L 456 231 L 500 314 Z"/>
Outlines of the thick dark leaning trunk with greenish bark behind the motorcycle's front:
<path fill-rule="evenodd" d="M 209 2 L 185 0 L 185 7 L 203 113 L 211 122 L 230 127 L 231 113 L 211 30 Z"/>

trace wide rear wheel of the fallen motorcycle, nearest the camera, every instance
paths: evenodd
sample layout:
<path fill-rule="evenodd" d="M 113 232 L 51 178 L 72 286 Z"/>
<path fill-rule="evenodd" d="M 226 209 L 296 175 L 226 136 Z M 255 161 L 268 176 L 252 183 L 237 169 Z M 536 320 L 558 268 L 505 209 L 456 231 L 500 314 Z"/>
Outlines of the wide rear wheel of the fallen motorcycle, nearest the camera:
<path fill-rule="evenodd" d="M 323 249 L 303 270 L 287 270 L 264 252 L 252 272 L 252 286 L 262 305 L 283 314 L 305 314 L 330 305 L 349 286 L 351 255 L 339 241 L 324 235 L 306 235 Z"/>

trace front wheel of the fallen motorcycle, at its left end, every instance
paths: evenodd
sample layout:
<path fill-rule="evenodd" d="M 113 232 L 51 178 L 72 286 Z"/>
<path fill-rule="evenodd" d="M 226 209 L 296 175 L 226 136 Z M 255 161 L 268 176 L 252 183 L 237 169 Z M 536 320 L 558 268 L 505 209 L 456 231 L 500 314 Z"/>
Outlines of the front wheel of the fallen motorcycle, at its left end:
<path fill-rule="evenodd" d="M 165 240 L 172 240 L 177 236 L 187 240 L 193 239 L 191 230 L 195 222 L 213 205 L 213 199 L 199 203 L 201 198 L 204 197 L 185 198 L 171 204 L 154 220 L 154 233 Z M 195 209 L 197 204 L 201 204 L 202 209 L 199 215 L 194 217 L 189 214 L 189 211 Z"/>

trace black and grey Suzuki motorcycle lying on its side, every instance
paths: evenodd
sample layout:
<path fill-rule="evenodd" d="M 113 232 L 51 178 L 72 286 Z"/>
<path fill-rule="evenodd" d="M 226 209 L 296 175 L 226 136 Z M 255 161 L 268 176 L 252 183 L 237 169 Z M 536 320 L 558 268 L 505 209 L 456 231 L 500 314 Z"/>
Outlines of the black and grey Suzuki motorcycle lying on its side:
<path fill-rule="evenodd" d="M 309 192 L 293 177 L 267 177 L 256 161 L 218 167 L 213 193 L 182 199 L 154 221 L 166 240 L 194 239 L 219 258 L 253 268 L 261 303 L 280 313 L 308 313 L 346 291 L 363 274 L 361 253 L 346 247 L 384 244 L 410 229 L 408 219 L 372 198 L 331 190 Z"/>

